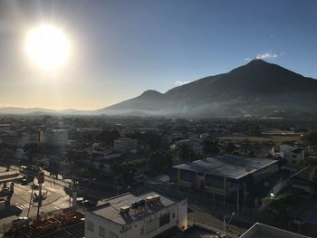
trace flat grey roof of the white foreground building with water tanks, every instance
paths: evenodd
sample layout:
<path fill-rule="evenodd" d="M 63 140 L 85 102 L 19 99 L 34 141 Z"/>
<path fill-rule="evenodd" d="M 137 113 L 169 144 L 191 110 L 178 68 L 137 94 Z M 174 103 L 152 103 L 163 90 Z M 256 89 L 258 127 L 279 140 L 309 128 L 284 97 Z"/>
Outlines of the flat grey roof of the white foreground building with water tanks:
<path fill-rule="evenodd" d="M 139 208 L 131 208 L 126 214 L 120 213 L 120 208 L 125 206 L 130 206 L 134 202 L 138 202 L 141 199 L 145 199 L 148 196 L 158 195 L 154 192 L 149 192 L 143 195 L 132 195 L 124 194 L 112 197 L 105 200 L 103 205 L 99 205 L 91 210 L 92 214 L 97 214 L 107 220 L 112 221 L 116 224 L 130 224 L 133 221 L 139 220 L 144 216 L 149 214 L 154 214 L 161 210 L 162 208 L 168 207 L 169 205 L 176 204 L 175 200 L 168 198 L 166 196 L 160 195 L 160 199 L 157 202 L 153 202 L 150 205 L 145 205 Z"/>

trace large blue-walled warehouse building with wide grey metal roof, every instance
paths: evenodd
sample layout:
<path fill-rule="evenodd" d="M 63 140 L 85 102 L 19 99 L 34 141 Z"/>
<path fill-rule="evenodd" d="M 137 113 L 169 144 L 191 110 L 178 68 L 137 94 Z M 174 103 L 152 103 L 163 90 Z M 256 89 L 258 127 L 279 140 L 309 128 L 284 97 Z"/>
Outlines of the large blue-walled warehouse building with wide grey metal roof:
<path fill-rule="evenodd" d="M 277 160 L 237 156 L 217 156 L 172 167 L 171 181 L 178 186 L 204 187 L 216 196 L 246 194 L 255 184 L 278 171 Z M 239 195 L 238 195 L 239 196 Z"/>

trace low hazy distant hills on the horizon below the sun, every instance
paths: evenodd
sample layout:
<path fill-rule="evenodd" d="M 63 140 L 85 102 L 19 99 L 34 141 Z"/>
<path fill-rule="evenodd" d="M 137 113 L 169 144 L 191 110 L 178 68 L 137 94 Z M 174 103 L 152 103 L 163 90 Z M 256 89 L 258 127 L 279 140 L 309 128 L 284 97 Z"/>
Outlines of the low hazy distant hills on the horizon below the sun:
<path fill-rule="evenodd" d="M 41 108 L 19 108 L 19 107 L 5 107 L 0 108 L 0 114 L 33 114 L 33 115 L 43 115 L 43 114 L 59 114 L 59 115 L 83 115 L 89 114 L 89 110 L 76 110 L 76 109 L 41 109 Z"/>

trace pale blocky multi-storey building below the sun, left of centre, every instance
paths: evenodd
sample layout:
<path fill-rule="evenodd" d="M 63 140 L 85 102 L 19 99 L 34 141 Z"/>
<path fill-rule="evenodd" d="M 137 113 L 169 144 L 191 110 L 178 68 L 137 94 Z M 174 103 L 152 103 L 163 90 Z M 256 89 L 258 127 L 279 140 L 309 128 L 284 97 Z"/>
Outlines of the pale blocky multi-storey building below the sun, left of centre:
<path fill-rule="evenodd" d="M 68 142 L 67 129 L 47 129 L 40 132 L 40 144 L 52 147 L 66 146 Z"/>

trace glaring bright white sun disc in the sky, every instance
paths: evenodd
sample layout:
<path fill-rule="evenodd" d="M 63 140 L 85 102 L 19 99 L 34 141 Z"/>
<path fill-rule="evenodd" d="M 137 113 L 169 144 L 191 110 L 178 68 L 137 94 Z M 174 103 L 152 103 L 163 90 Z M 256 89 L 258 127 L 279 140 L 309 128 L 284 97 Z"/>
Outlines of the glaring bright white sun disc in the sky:
<path fill-rule="evenodd" d="M 25 50 L 36 66 L 56 69 L 69 58 L 70 43 L 62 29 L 42 24 L 27 33 Z"/>

